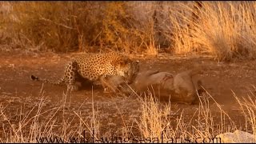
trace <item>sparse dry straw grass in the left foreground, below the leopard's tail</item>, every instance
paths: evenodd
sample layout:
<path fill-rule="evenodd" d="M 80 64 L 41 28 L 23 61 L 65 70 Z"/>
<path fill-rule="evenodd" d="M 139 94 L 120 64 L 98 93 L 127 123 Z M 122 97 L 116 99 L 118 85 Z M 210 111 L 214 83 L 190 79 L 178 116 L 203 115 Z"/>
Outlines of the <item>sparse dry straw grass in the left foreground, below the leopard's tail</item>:
<path fill-rule="evenodd" d="M 3 131 L 1 133 L 4 137 L 0 138 L 0 142 L 70 142 L 76 140 L 76 142 L 83 142 L 84 130 L 89 131 L 92 136 L 93 133 L 97 135 L 99 123 L 97 119 L 97 110 L 94 110 L 94 102 L 92 105 L 92 118 L 84 119 L 81 116 L 81 110 L 74 110 L 74 117 L 76 116 L 79 121 L 77 126 L 73 126 L 72 122 L 74 117 L 70 117 L 67 112 L 70 105 L 66 102 L 66 98 L 70 94 L 64 94 L 60 104 L 47 110 L 45 106 L 46 98 L 44 94 L 40 92 L 40 101 L 34 104 L 34 107 L 26 112 L 26 115 L 22 116 L 20 111 L 20 119 L 18 123 L 13 122 L 13 119 L 9 118 L 5 113 L 5 108 L 0 105 L 0 115 L 3 124 Z M 80 106 L 81 107 L 81 106 Z M 57 118 L 61 117 L 61 118 Z M 61 119 L 58 122 L 57 119 Z M 6 127 L 6 129 L 5 129 Z M 86 128 L 86 129 L 85 129 Z M 71 138 L 71 139 L 70 139 Z M 96 138 L 97 139 L 97 138 Z"/>

